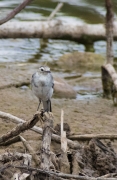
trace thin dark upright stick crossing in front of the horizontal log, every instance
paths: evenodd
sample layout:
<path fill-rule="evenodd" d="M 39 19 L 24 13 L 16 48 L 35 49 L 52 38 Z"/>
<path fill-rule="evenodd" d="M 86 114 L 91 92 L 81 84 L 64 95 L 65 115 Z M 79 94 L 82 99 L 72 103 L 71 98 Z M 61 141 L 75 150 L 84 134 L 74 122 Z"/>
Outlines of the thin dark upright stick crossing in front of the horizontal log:
<path fill-rule="evenodd" d="M 106 5 L 106 39 L 107 39 L 107 63 L 113 64 L 113 8 L 112 0 L 105 0 Z"/>

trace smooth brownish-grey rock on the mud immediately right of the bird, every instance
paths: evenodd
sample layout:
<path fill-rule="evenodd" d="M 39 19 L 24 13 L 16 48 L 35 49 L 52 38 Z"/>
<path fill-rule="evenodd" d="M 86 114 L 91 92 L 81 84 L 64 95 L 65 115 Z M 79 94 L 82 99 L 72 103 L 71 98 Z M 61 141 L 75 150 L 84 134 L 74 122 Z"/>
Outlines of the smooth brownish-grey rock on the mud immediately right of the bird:
<path fill-rule="evenodd" d="M 59 98 L 76 98 L 76 91 L 64 79 L 54 77 L 54 95 Z"/>

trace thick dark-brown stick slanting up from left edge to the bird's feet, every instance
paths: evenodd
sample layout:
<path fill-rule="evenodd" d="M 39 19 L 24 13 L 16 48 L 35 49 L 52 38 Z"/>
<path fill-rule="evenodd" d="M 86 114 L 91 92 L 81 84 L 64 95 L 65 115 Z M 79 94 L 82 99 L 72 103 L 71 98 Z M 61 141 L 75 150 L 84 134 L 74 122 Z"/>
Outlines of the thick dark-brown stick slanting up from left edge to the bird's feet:
<path fill-rule="evenodd" d="M 32 128 L 39 120 L 41 120 L 41 118 L 42 118 L 41 113 L 36 113 L 33 119 L 31 119 L 30 121 L 18 124 L 10 132 L 1 136 L 0 143 L 8 141 L 8 139 L 13 138 L 14 136 L 17 136 L 18 134 L 20 134 L 21 132 Z"/>

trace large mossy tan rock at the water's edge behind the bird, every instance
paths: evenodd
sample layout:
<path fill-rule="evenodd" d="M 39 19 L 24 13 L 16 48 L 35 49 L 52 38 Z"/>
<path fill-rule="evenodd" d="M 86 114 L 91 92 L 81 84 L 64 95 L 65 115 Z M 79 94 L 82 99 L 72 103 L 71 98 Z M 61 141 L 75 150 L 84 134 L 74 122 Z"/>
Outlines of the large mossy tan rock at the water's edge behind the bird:
<path fill-rule="evenodd" d="M 104 64 L 105 58 L 100 54 L 91 52 L 73 52 L 64 54 L 58 61 L 50 64 L 53 68 L 64 71 L 99 70 Z"/>

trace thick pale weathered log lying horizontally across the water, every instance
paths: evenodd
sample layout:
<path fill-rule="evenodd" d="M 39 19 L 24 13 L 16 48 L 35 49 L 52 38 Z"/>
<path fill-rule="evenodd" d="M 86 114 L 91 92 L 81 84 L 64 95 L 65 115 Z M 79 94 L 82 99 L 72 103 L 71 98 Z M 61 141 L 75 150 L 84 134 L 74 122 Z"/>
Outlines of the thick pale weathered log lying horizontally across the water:
<path fill-rule="evenodd" d="M 90 25 L 67 23 L 60 20 L 7 22 L 0 26 L 0 38 L 44 38 L 74 40 L 91 43 L 105 40 L 106 32 L 103 24 Z M 114 24 L 114 38 L 117 40 L 117 23 Z"/>

